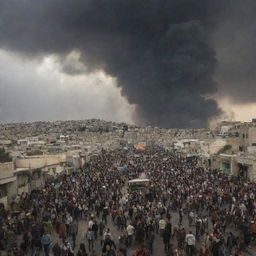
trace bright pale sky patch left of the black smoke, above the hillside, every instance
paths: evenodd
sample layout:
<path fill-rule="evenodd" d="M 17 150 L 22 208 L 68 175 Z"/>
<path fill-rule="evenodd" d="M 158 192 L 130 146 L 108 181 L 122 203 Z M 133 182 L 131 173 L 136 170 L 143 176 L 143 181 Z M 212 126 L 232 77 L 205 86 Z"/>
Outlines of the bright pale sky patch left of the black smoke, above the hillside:
<path fill-rule="evenodd" d="M 70 59 L 79 66 L 76 57 Z M 35 61 L 0 50 L 1 122 L 101 118 L 132 123 L 132 113 L 115 79 L 103 72 L 71 76 L 54 56 Z"/>

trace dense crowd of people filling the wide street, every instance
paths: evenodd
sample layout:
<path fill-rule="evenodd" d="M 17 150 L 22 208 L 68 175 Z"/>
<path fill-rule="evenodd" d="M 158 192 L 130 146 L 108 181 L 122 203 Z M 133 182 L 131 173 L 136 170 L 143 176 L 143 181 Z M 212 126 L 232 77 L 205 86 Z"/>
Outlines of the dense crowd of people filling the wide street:
<path fill-rule="evenodd" d="M 149 185 L 127 187 L 142 175 Z M 256 239 L 255 192 L 160 148 L 102 151 L 23 193 L 16 209 L 1 205 L 0 252 L 242 256 Z"/>

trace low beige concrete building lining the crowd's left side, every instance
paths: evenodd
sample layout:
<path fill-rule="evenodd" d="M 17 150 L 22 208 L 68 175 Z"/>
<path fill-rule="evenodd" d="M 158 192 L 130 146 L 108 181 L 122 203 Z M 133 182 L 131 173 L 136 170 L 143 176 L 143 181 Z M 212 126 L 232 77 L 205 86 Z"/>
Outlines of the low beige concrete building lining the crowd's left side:
<path fill-rule="evenodd" d="M 14 163 L 1 163 L 0 203 L 8 207 L 17 196 L 42 188 L 48 177 L 65 170 L 66 154 L 23 157 Z"/>

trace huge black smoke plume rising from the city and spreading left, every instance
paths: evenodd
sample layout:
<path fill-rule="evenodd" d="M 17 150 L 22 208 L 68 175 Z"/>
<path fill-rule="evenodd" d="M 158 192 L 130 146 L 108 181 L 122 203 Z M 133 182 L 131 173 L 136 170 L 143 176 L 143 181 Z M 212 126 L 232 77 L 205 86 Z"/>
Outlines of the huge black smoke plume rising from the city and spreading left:
<path fill-rule="evenodd" d="M 0 47 L 40 57 L 81 53 L 117 78 L 139 123 L 202 127 L 220 113 L 211 35 L 223 0 L 1 0 Z M 83 70 L 64 65 L 69 74 Z"/>

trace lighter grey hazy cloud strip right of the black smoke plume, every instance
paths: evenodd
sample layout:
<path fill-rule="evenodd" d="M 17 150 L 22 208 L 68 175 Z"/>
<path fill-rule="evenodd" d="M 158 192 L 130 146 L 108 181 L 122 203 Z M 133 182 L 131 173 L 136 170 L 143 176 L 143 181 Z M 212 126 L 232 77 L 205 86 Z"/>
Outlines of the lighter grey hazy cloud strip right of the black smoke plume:
<path fill-rule="evenodd" d="M 230 1 L 214 31 L 219 94 L 234 103 L 254 103 L 256 98 L 256 1 Z"/>

